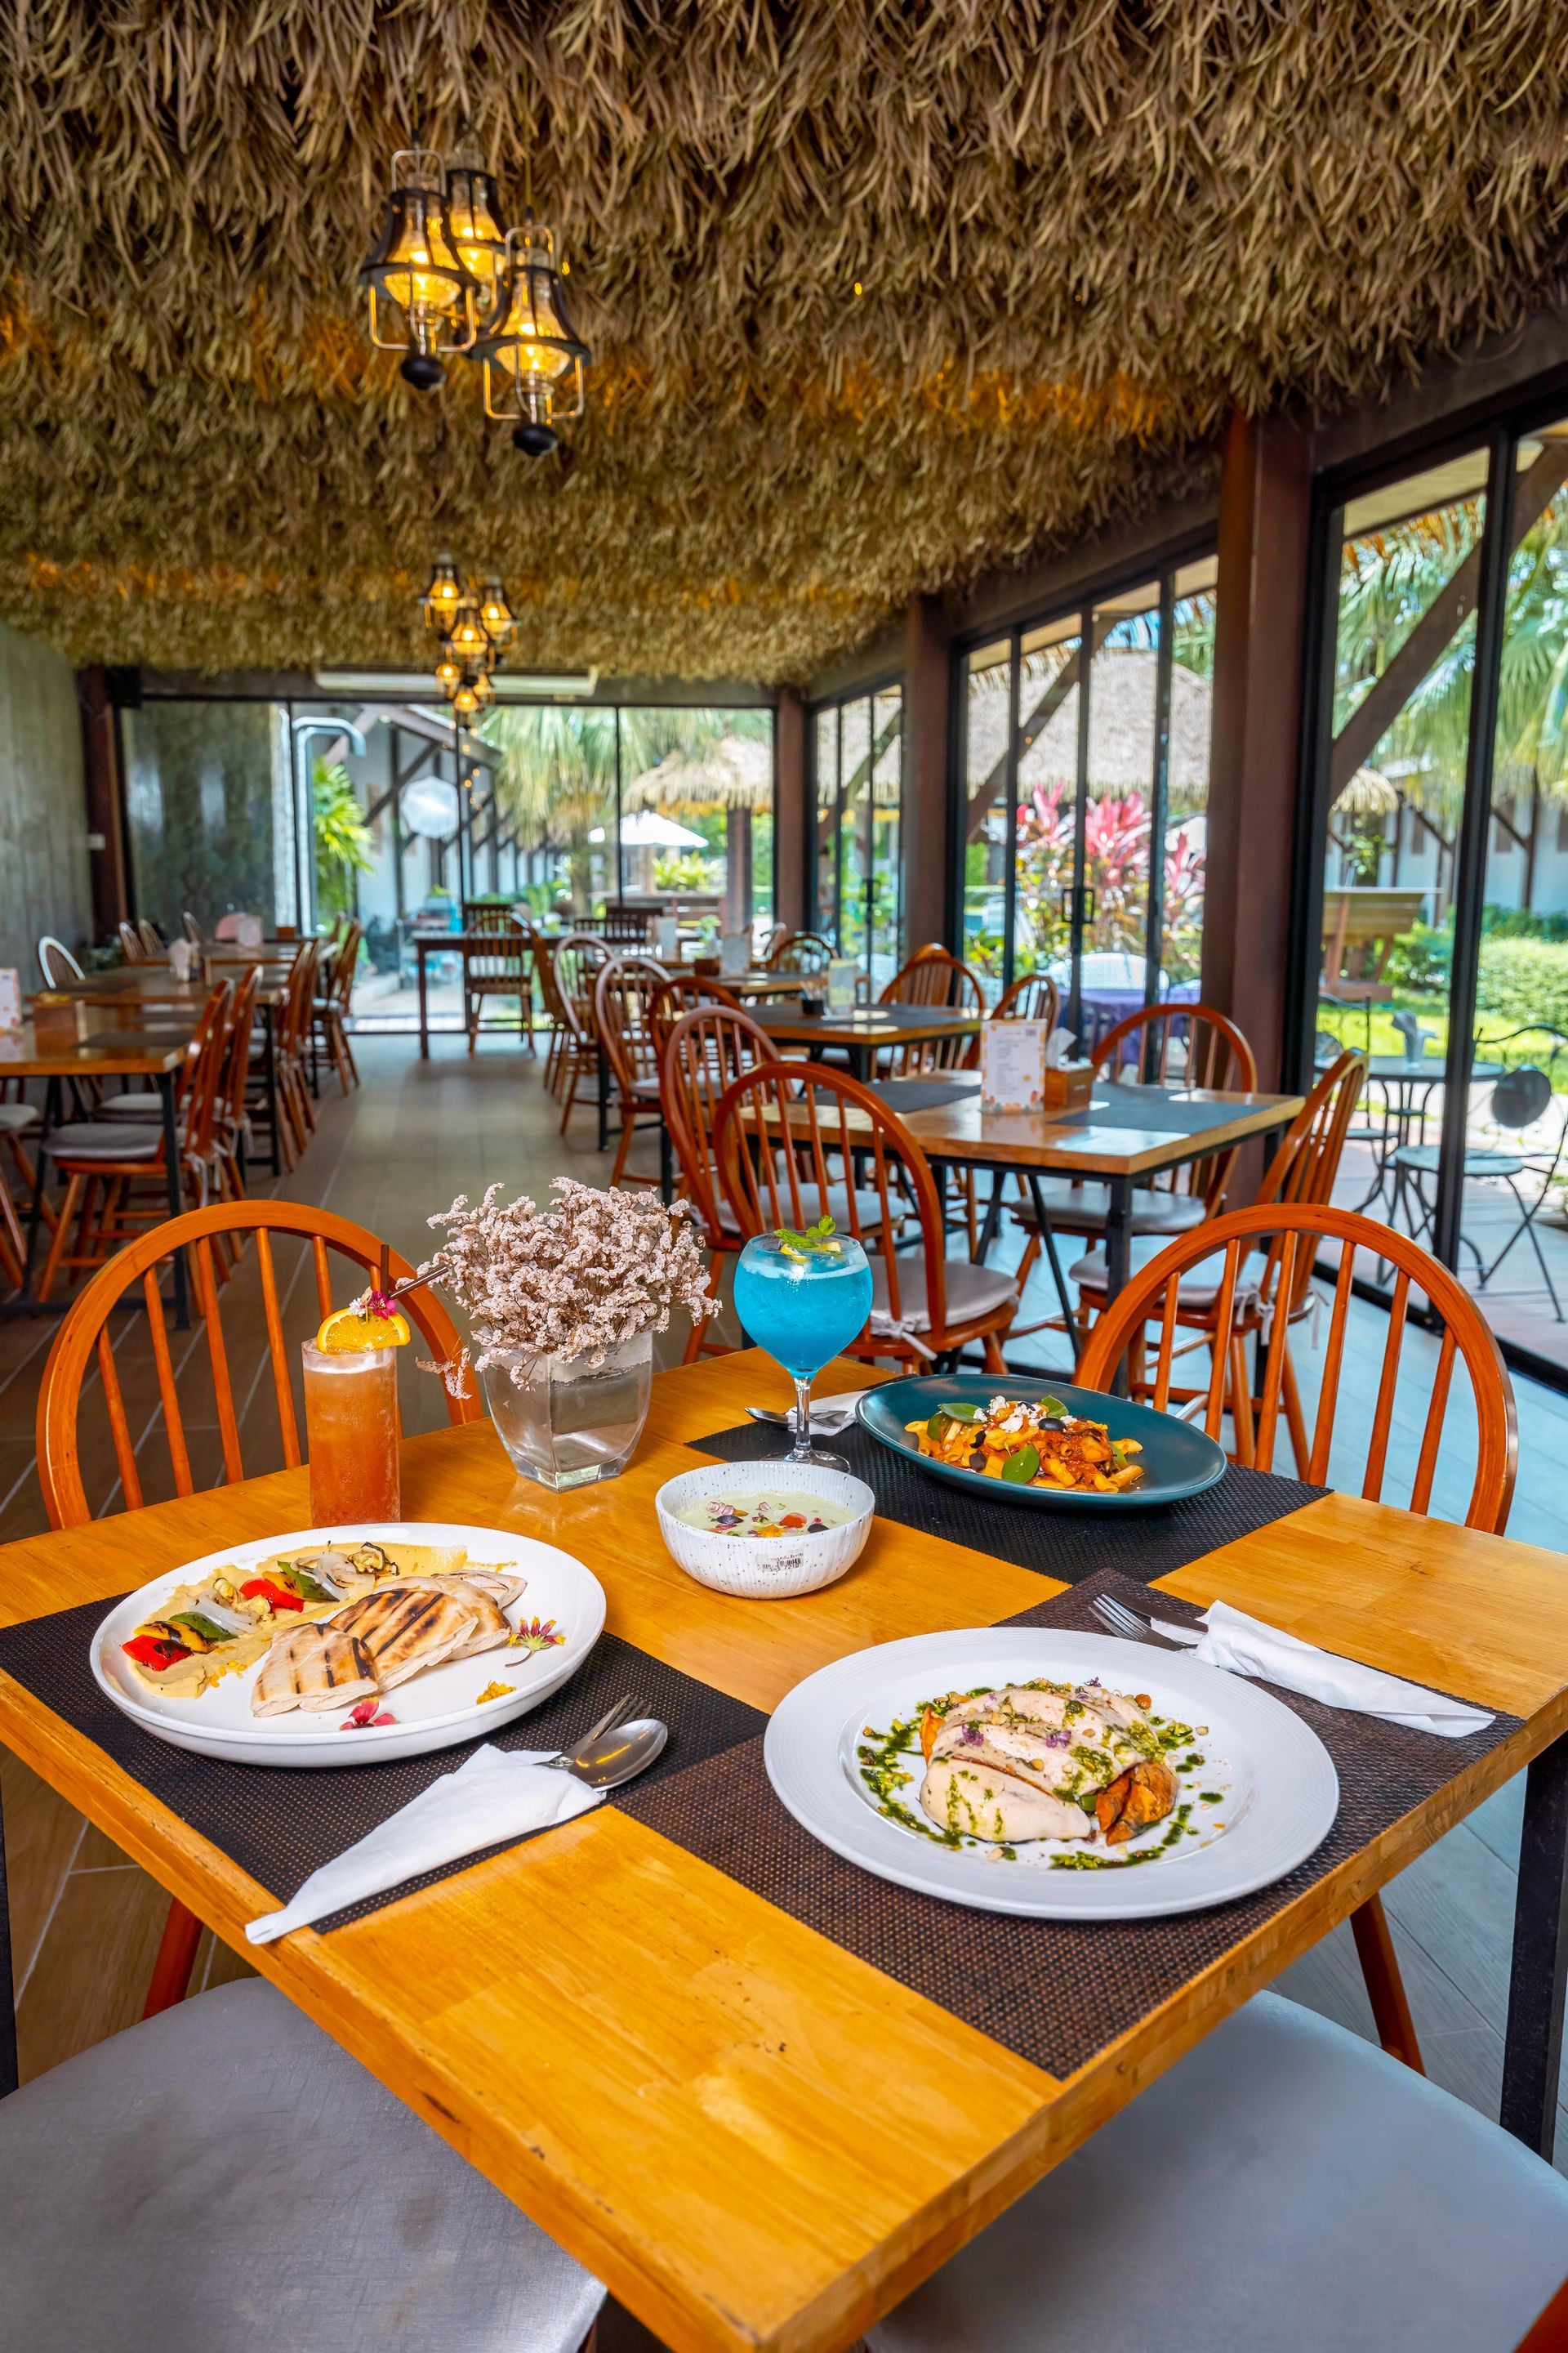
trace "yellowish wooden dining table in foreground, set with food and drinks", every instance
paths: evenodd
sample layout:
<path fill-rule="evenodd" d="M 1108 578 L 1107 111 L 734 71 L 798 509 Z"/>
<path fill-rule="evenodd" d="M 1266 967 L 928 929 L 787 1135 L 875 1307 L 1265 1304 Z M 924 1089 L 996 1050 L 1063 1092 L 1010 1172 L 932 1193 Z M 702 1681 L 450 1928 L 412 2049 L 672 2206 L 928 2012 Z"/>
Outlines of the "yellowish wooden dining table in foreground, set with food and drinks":
<path fill-rule="evenodd" d="M 839 1362 L 823 1386 L 872 1377 Z M 785 1405 L 788 1386 L 759 1353 L 658 1374 L 632 1466 L 574 1494 L 515 1480 L 484 1421 L 402 1449 L 409 1520 L 517 1529 L 595 1567 L 609 1598 L 597 1689 L 684 1678 L 708 1720 L 724 1718 L 639 1802 L 632 1784 L 362 1918 L 249 1948 L 244 1922 L 280 1889 L 56 1713 L 9 1649 L 0 1739 L 679 2353 L 851 2346 L 1526 1767 L 1502 2120 L 1549 2153 L 1568 1960 L 1568 1560 L 1324 1494 L 1300 1508 L 1286 1497 L 1281 1518 L 1164 1574 L 1154 1591 L 1173 1607 L 1222 1598 L 1500 1713 L 1481 1739 L 1422 1734 L 1420 1791 L 1382 1812 L 1340 1772 L 1340 1821 L 1272 1889 L 1185 1918 L 1079 1922 L 1048 1946 L 1051 1984 L 1025 1960 L 1046 2019 L 1030 2038 L 1001 1993 L 992 2009 L 969 2000 L 997 1915 L 936 1899 L 912 1911 L 907 1892 L 816 1847 L 771 1798 L 759 1732 L 818 1666 L 900 1635 L 1077 1609 L 1081 1593 L 1001 1558 L 1001 1541 L 992 1558 L 886 1515 L 858 1565 L 811 1595 L 738 1600 L 686 1579 L 661 1544 L 656 1489 L 703 1461 L 701 1440 L 748 1400 Z M 33 1640 L 31 1621 L 71 1605 L 85 1605 L 68 1621 L 85 1642 L 113 1595 L 308 1520 L 308 1473 L 282 1471 L 9 1544 L 0 1642 Z M 59 1640 L 45 1626 L 33 1657 L 56 1657 Z M 1371 1725 L 1392 1741 L 1375 1720 L 1349 1722 L 1356 1739 Z M 268 1774 L 263 1805 L 284 1819 L 329 1807 L 329 1772 Z M 726 1842 L 726 1807 L 748 1805 L 755 1840 Z M 797 1857 L 769 1892 L 752 1842 Z M 889 1918 L 903 1941 L 886 1941 Z M 1044 1953 L 1053 1922 L 1025 1927 Z M 1098 2026 L 1058 2047 L 1051 2000 L 1074 1988 Z"/>

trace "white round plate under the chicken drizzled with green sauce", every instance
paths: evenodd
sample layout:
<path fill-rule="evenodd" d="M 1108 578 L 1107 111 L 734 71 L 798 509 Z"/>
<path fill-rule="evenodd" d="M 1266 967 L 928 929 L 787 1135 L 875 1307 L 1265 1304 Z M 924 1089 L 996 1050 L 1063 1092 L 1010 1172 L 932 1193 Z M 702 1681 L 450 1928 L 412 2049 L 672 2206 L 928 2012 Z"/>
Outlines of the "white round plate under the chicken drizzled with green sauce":
<path fill-rule="evenodd" d="M 1117 1849 L 1034 1840 L 1004 1852 L 976 1838 L 950 1847 L 879 1809 L 889 1791 L 867 1784 L 867 1727 L 889 1734 L 943 1692 L 1095 1675 L 1114 1692 L 1147 1692 L 1157 1718 L 1194 1729 L 1192 1744 L 1171 1751 L 1185 1824 L 1171 1817 Z M 1340 1781 L 1316 1732 L 1258 1685 L 1182 1652 L 1048 1626 L 922 1633 L 835 1659 L 785 1694 L 764 1758 L 783 1805 L 846 1861 L 947 1904 L 1041 1920 L 1147 1920 L 1229 1904 L 1295 1871 L 1340 1809 Z M 910 1781 L 893 1802 L 924 1821 L 914 1732 L 896 1765 Z M 1147 1861 L 1128 1861 L 1138 1854 Z M 1107 1864 L 1084 1868 L 1084 1857 Z"/>

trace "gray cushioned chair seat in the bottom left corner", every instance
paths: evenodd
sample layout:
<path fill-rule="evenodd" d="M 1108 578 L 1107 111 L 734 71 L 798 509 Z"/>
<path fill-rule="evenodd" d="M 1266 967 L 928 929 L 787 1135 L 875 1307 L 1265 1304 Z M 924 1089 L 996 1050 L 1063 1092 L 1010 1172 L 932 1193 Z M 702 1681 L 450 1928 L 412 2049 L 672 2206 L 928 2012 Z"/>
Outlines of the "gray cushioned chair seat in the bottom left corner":
<path fill-rule="evenodd" d="M 604 2289 L 292 2002 L 179 2002 L 0 2101 L 14 2353 L 576 2353 Z"/>

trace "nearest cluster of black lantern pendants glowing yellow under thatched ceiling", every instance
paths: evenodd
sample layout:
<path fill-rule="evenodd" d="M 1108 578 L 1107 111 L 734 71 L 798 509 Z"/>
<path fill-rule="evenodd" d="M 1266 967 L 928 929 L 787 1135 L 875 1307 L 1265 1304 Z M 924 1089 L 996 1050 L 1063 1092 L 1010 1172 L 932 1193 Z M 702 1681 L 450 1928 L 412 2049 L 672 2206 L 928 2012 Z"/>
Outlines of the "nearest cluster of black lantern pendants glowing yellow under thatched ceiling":
<path fill-rule="evenodd" d="M 559 426 L 583 414 L 592 360 L 571 327 L 555 235 L 531 205 L 508 231 L 494 174 L 465 148 L 451 160 L 402 148 L 393 184 L 381 240 L 360 268 L 371 344 L 402 351 L 402 374 L 421 393 L 447 381 L 451 353 L 475 360 L 484 414 L 512 426 L 524 456 L 548 456 Z"/>

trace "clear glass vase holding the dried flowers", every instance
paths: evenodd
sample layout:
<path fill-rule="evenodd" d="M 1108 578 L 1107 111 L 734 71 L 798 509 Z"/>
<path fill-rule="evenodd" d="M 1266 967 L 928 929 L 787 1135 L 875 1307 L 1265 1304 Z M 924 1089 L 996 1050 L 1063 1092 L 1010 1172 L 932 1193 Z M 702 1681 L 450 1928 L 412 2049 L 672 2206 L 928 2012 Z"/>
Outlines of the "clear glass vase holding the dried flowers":
<path fill-rule="evenodd" d="M 522 1379 L 512 1379 L 517 1367 Z M 621 1341 L 597 1365 L 585 1355 L 508 1355 L 480 1379 L 496 1438 L 522 1478 L 585 1487 L 616 1478 L 637 1452 L 649 1419 L 654 1334 Z"/>

